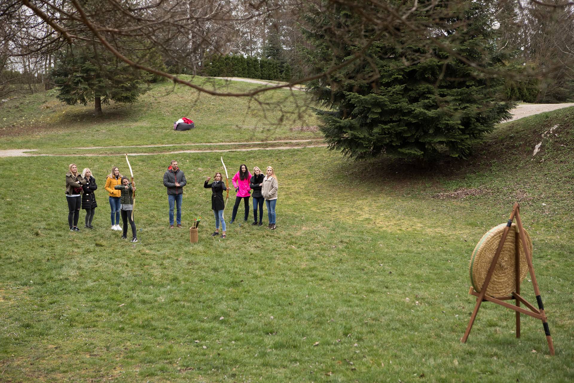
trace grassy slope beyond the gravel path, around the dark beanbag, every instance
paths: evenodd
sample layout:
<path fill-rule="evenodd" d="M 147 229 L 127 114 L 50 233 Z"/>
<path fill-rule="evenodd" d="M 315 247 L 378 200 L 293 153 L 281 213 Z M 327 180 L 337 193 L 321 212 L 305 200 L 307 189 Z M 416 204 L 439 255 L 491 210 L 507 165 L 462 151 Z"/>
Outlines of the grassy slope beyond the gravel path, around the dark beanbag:
<path fill-rule="evenodd" d="M 182 76 L 191 80 L 190 76 Z M 193 82 L 219 91 L 246 92 L 258 84 L 195 78 Z M 308 109 L 311 96 L 301 91 L 275 90 L 256 99 L 210 96 L 168 82 L 154 84 L 131 105 L 68 106 L 56 90 L 3 103 L 0 109 L 0 149 L 55 149 L 73 146 L 188 144 L 200 142 L 267 141 L 320 138 L 317 131 L 297 127 L 317 125 Z M 191 131 L 174 131 L 173 122 L 189 117 Z M 61 140 L 65 136 L 67 140 Z"/>

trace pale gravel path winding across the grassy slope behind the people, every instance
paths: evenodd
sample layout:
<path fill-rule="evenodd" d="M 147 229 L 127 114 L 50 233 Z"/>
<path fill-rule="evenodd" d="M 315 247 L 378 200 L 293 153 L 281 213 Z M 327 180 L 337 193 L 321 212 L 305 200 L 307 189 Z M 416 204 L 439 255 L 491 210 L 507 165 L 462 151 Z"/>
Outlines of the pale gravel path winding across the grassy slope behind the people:
<path fill-rule="evenodd" d="M 220 79 L 243 81 L 255 84 L 267 84 L 276 85 L 273 83 L 267 83 L 265 81 L 251 80 L 251 79 L 240 79 L 233 77 L 225 77 Z M 293 90 L 302 90 L 298 87 L 293 87 Z M 513 110 L 511 110 L 512 118 L 508 121 L 515 121 L 522 117 L 528 117 L 529 115 L 543 113 L 551 110 L 562 109 L 565 107 L 574 106 L 574 103 L 564 103 L 564 104 L 527 104 L 518 105 Z M 113 149 L 113 148 L 157 148 L 160 146 L 197 146 L 197 145 L 247 145 L 247 144 L 273 144 L 274 142 L 309 142 L 309 141 L 320 141 L 320 138 L 315 138 L 311 140 L 277 140 L 277 141 L 261 141 L 261 142 L 208 142 L 204 144 L 168 144 L 168 145 L 133 145 L 133 146 L 93 146 L 91 148 L 76 148 L 76 149 Z M 270 148 L 245 148 L 245 149 L 218 149 L 218 150 L 177 150 L 174 152 L 164 152 L 164 153 L 133 153 L 131 156 L 150 156 L 152 154 L 177 154 L 177 153 L 212 153 L 212 152 L 248 152 L 251 150 L 282 150 L 282 149 L 301 149 L 301 148 L 318 148 L 321 146 L 327 146 L 326 144 L 320 145 L 306 145 L 306 146 L 276 146 Z M 37 157 L 37 156 L 77 156 L 77 154 L 34 154 L 25 152 L 34 152 L 37 149 L 6 149 L 0 150 L 0 157 Z M 110 156 L 113 154 L 82 154 L 83 156 Z"/>

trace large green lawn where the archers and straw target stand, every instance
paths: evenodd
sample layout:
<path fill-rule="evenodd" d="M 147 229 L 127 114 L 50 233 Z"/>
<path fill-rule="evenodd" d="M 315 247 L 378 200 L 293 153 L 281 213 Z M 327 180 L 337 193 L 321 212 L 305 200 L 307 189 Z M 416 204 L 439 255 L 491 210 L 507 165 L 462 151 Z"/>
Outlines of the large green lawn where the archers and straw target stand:
<path fill-rule="evenodd" d="M 225 240 L 209 235 L 203 188 L 220 154 L 178 154 L 184 227 L 203 216 L 194 245 L 187 230 L 168 229 L 161 178 L 173 155 L 130 160 L 135 246 L 109 229 L 103 190 L 112 165 L 126 172 L 122 156 L 0 158 L 0 381 L 572 381 L 573 110 L 501 125 L 469 160 L 422 169 L 325 148 L 224 153 L 230 174 L 271 164 L 280 183 L 278 229 L 234 223 Z M 558 136 L 542 140 L 554 125 Z M 85 136 L 98 141 L 97 129 Z M 34 144 L 42 137 L 51 145 Z M 68 138 L 34 140 L 48 150 Z M 67 229 L 71 162 L 98 181 L 92 231 Z M 488 303 L 459 342 L 475 302 L 470 254 L 516 201 L 554 357 L 538 320 L 523 316 L 516 339 L 513 312 Z M 528 278 L 522 292 L 534 301 Z"/>

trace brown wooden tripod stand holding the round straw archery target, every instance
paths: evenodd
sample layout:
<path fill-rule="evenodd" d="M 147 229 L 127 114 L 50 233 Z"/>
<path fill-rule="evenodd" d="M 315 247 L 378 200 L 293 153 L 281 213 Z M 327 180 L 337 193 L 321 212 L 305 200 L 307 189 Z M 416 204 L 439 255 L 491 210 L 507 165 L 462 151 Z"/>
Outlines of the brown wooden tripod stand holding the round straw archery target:
<path fill-rule="evenodd" d="M 492 277 L 492 273 L 494 273 L 494 269 L 498 262 L 498 257 L 502 252 L 502 247 L 506 241 L 506 237 L 510 231 L 510 226 L 512 222 L 516 218 L 516 223 L 518 226 L 518 231 L 515 232 L 515 292 L 512 293 L 511 296 L 501 296 L 501 297 L 492 297 L 486 294 L 486 290 L 488 288 L 488 284 L 490 283 L 490 279 Z M 474 311 L 472 311 L 472 315 L 470 320 L 468 321 L 468 326 L 466 331 L 464 332 L 464 336 L 460 338 L 462 343 L 466 343 L 468 339 L 468 334 L 470 334 L 470 330 L 472 328 L 472 324 L 476 319 L 476 314 L 478 314 L 478 309 L 480 308 L 480 304 L 483 301 L 490 301 L 492 303 L 499 304 L 501 306 L 510 308 L 511 310 L 516 311 L 516 337 L 520 338 L 520 314 L 525 314 L 532 316 L 533 318 L 540 319 L 542 321 L 542 326 L 544 326 L 544 333 L 546 334 L 546 341 L 548 341 L 548 348 L 550 349 L 550 355 L 554 355 L 554 345 L 552 343 L 552 336 L 550 336 L 550 329 L 548 327 L 548 322 L 546 322 L 546 314 L 544 312 L 544 305 L 542 305 L 542 298 L 540 297 L 540 290 L 538 289 L 538 283 L 536 281 L 536 274 L 534 274 L 534 266 L 532 265 L 532 254 L 530 254 L 529 247 L 526 245 L 526 237 L 523 234 L 524 227 L 522 226 L 522 220 L 520 219 L 519 213 L 519 205 L 518 203 L 514 204 L 513 210 L 510 214 L 510 218 L 508 223 L 502 233 L 501 241 L 498 244 L 498 248 L 496 253 L 494 254 L 494 258 L 492 258 L 492 263 L 490 264 L 490 268 L 488 269 L 488 273 L 486 274 L 486 278 L 484 279 L 484 283 L 482 288 L 480 289 L 480 293 L 476 292 L 474 287 L 471 286 L 470 291 L 468 292 L 471 295 L 476 296 L 476 305 L 474 307 Z M 523 250 L 526 255 L 526 262 L 528 263 L 528 270 L 530 273 L 530 278 L 532 279 L 532 285 L 534 287 L 534 293 L 536 293 L 536 301 L 538 303 L 538 309 L 535 308 L 532 304 L 529 303 L 526 299 L 524 299 L 520 295 L 520 276 L 519 276 L 519 266 L 520 266 L 520 252 L 519 252 L 519 241 L 522 243 Z M 506 303 L 505 300 L 515 300 L 515 304 Z M 520 307 L 520 304 L 524 304 L 530 310 L 526 310 L 525 308 Z"/>

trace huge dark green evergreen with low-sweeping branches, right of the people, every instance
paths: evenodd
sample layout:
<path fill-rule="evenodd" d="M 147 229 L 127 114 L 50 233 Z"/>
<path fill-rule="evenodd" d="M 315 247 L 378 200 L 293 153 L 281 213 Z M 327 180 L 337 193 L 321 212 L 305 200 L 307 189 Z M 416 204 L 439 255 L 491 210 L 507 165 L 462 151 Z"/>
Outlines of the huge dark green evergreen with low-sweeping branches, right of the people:
<path fill-rule="evenodd" d="M 440 35 L 456 38 L 448 41 L 456 41 L 456 51 L 477 67 L 502 65 L 492 59 L 494 31 L 489 12 L 494 5 L 494 0 L 468 1 L 459 20 L 450 20 L 452 25 L 461 21 L 461 27 Z M 444 5 L 436 5 L 440 6 Z M 353 36 L 373 36 L 350 9 L 331 9 L 338 11 L 334 17 L 318 11 L 309 17 L 316 30 L 307 31 L 315 45 L 308 54 L 317 72 L 351 57 L 357 50 Z M 420 22 L 426 11 L 425 7 L 416 10 Z M 342 26 L 350 30 L 348 40 L 337 40 L 332 34 Z M 389 37 L 381 34 L 364 59 L 311 84 L 317 98 L 331 109 L 317 111 L 329 148 L 355 158 L 387 153 L 428 159 L 441 152 L 466 157 L 484 133 L 510 117 L 511 103 L 501 102 L 502 80 L 452 57 L 438 45 L 429 51 L 422 45 L 428 41 L 413 40 L 412 33 L 403 33 L 399 27 L 395 32 Z M 406 37 L 401 40 L 401 36 Z M 333 47 L 327 41 L 338 43 Z"/>

